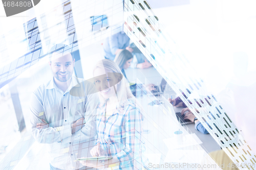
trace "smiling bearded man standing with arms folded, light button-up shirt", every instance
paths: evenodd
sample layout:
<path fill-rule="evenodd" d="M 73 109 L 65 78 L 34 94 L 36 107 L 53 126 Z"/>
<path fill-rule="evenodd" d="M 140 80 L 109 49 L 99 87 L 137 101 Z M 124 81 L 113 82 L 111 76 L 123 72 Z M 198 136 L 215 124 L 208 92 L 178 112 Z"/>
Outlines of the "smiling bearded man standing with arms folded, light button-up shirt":
<path fill-rule="evenodd" d="M 39 86 L 31 96 L 32 135 L 39 143 L 47 143 L 50 169 L 78 169 L 83 165 L 77 158 L 83 144 L 95 138 L 95 113 L 98 103 L 94 85 L 73 75 L 75 59 L 65 46 L 59 51 L 52 47 L 49 65 L 53 78 Z M 61 51 L 61 52 L 60 52 Z M 70 90 L 82 95 L 71 95 Z"/>

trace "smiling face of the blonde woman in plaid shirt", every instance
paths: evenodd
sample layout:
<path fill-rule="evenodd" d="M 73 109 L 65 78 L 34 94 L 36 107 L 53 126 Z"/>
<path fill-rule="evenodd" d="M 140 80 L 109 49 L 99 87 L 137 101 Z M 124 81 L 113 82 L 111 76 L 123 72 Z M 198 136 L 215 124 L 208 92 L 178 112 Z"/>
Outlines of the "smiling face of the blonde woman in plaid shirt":
<path fill-rule="evenodd" d="M 105 71 L 103 68 L 94 70 L 94 82 L 97 91 L 100 91 L 104 99 L 116 97 L 114 86 L 117 89 L 118 78 L 115 75 L 114 72 Z"/>

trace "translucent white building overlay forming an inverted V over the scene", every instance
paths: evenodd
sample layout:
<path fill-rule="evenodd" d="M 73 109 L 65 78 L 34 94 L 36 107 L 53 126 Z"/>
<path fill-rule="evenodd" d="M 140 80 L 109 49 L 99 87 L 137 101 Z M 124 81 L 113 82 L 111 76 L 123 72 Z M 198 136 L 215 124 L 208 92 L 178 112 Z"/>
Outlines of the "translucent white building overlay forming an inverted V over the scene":
<path fill-rule="evenodd" d="M 256 163 L 256 156 L 246 139 L 243 138 L 240 130 L 228 116 L 229 113 L 219 104 L 215 95 L 208 92 L 209 90 L 200 78 L 200 73 L 194 71 L 179 50 L 178 45 L 159 23 L 160 20 L 161 18 L 158 18 L 153 12 L 150 4 L 142 0 L 67 1 L 50 12 L 24 23 L 23 31 L 26 38 L 17 41 L 19 44 L 25 44 L 26 50 L 24 54 L 14 60 L 8 58 L 5 35 L 0 37 L 1 60 L 5 63 L 0 68 L 0 88 L 11 83 L 25 70 L 29 70 L 53 52 L 70 51 L 76 53 L 76 74 L 83 78 L 84 75 L 79 71 L 81 69 L 80 60 L 82 60 L 79 50 L 123 31 L 136 44 L 147 60 L 152 63 L 168 85 L 180 96 L 229 158 L 234 163 L 245 163 L 245 166 L 239 167 L 240 169 L 254 169 L 252 166 L 247 166 Z M 52 44 L 60 42 L 69 44 L 71 48 L 56 46 L 54 51 L 50 51 Z M 148 98 L 153 98 L 153 96 L 148 96 Z M 143 103 L 143 101 L 141 102 Z M 15 109 L 15 112 L 17 110 L 18 108 Z M 158 114 L 164 113 L 163 116 L 167 116 L 165 119 L 169 120 L 172 119 L 168 116 L 170 112 L 171 110 L 164 107 L 159 107 L 159 110 L 156 111 Z M 20 131 L 22 131 L 25 127 L 23 116 L 17 117 L 17 122 Z M 162 127 L 159 122 L 158 124 L 153 122 L 152 125 L 148 126 L 154 126 L 159 133 L 163 133 L 162 136 L 168 138 L 170 137 L 168 130 L 170 128 L 175 129 L 172 126 L 178 127 L 179 125 L 173 123 L 173 125 Z M 17 144 L 19 147 L 22 145 L 27 150 L 23 151 L 23 148 L 7 155 L 0 162 L 1 169 L 13 169 L 25 156 L 34 142 L 33 137 L 27 137 L 27 139 L 20 140 Z M 147 144 L 148 150 L 155 148 L 164 157 L 167 157 L 168 149 L 161 147 L 163 146 L 159 143 L 150 144 L 149 142 Z M 157 153 L 153 150 L 153 153 Z M 203 149 L 199 147 L 193 150 L 200 151 Z M 204 157 L 208 162 L 213 162 L 210 157 Z"/>

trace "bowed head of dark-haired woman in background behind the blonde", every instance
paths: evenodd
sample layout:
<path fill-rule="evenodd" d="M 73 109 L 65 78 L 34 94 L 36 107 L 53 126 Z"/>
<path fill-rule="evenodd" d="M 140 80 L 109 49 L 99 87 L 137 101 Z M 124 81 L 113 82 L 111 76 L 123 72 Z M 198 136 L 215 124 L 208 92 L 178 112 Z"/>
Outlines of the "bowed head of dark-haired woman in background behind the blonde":
<path fill-rule="evenodd" d="M 114 61 L 117 63 L 122 71 L 123 76 L 126 78 L 124 69 L 127 69 L 131 66 L 131 62 L 133 61 L 132 53 L 130 53 L 128 50 L 122 50 L 116 55 Z"/>

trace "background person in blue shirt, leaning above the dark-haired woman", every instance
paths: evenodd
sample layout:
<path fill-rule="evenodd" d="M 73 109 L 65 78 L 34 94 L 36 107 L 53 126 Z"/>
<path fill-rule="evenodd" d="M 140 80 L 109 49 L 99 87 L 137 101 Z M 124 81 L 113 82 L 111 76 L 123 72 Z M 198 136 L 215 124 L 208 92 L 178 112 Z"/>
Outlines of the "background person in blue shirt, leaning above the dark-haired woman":
<path fill-rule="evenodd" d="M 114 60 L 117 53 L 123 49 L 133 52 L 133 48 L 129 47 L 130 38 L 124 33 L 119 32 L 105 39 L 103 43 L 104 57 Z"/>

